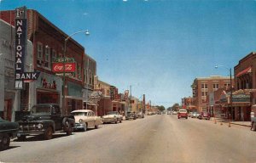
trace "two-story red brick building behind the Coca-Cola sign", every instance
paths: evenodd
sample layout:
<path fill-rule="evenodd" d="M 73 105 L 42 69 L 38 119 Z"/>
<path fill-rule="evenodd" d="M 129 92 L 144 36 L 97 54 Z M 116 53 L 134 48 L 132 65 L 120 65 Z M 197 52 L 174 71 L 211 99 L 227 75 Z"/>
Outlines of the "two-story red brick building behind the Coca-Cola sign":
<path fill-rule="evenodd" d="M 37 81 L 26 83 L 25 89 L 21 91 L 23 95 L 20 98 L 22 104 L 20 110 L 29 110 L 33 104 L 40 103 L 60 104 L 64 114 L 69 114 L 72 110 L 82 109 L 85 98 L 82 90 L 93 87 L 96 62 L 89 59 L 89 62 L 93 64 L 85 65 L 84 47 L 69 38 L 66 57 L 74 59 L 76 70 L 71 76 L 65 76 L 65 84 L 63 84 L 64 77 L 56 76 L 51 65 L 55 59 L 63 57 L 64 42 L 68 35 L 44 18 L 42 14 L 39 14 L 38 11 L 27 9 L 26 14 L 27 39 L 33 45 L 31 69 L 40 71 L 40 76 Z M 15 10 L 1 11 L 0 19 L 15 25 Z M 88 82 L 89 84 L 87 84 Z M 66 87 L 63 87 L 64 85 Z M 63 90 L 65 92 L 64 106 L 62 104 Z"/>

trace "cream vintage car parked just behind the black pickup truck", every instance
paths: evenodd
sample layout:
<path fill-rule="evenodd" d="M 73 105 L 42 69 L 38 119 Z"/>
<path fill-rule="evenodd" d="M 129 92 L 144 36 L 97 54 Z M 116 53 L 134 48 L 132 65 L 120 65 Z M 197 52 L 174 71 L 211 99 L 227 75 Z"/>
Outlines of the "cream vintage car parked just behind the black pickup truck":
<path fill-rule="evenodd" d="M 86 132 L 88 128 L 98 128 L 102 124 L 102 118 L 92 110 L 73 110 L 71 115 L 75 118 L 75 130 Z"/>

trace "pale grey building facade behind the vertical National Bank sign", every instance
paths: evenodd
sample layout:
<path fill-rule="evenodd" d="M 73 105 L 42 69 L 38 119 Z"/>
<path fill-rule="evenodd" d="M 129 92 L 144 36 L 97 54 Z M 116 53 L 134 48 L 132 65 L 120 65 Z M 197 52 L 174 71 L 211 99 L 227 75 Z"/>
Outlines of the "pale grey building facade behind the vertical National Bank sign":
<path fill-rule="evenodd" d="M 15 121 L 15 112 L 26 109 L 20 98 L 27 98 L 26 92 L 33 87 L 28 85 L 24 90 L 15 89 L 15 27 L 0 20 L 0 116 L 4 120 Z M 32 42 L 26 44 L 27 57 L 25 70 L 32 71 Z M 29 86 L 29 87 L 28 87 Z"/>

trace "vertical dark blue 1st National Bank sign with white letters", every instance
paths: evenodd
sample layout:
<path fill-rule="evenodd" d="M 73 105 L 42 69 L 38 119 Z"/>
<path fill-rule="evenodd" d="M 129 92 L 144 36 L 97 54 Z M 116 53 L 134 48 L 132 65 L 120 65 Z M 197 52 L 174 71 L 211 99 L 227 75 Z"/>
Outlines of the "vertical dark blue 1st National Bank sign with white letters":
<path fill-rule="evenodd" d="M 15 89 L 23 89 L 24 81 L 37 80 L 39 72 L 24 72 L 26 65 L 26 7 L 15 9 Z"/>

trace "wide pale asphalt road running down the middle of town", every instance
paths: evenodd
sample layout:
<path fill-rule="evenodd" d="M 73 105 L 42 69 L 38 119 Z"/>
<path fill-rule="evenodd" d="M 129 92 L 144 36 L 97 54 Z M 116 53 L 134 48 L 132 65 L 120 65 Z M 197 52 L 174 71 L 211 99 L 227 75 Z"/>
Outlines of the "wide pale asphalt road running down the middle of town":
<path fill-rule="evenodd" d="M 256 162 L 256 132 L 245 126 L 151 115 L 51 140 L 13 140 L 0 162 Z"/>

